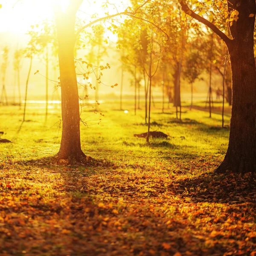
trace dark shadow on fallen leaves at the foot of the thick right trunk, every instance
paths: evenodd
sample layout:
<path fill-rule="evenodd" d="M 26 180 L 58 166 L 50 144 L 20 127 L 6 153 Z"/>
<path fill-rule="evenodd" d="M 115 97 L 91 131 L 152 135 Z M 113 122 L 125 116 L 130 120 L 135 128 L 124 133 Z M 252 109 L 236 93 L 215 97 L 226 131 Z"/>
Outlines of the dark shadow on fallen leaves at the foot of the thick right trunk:
<path fill-rule="evenodd" d="M 253 174 L 217 174 L 211 172 L 198 177 L 177 180 L 169 184 L 169 189 L 189 198 L 190 202 L 210 202 L 225 204 L 256 204 L 256 178 Z"/>

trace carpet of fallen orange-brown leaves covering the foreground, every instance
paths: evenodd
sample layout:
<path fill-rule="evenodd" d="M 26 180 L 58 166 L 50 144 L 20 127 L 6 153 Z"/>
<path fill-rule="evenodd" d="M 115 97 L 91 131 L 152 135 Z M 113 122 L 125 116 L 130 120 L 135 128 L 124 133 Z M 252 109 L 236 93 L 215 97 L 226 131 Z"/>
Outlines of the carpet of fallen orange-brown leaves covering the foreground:
<path fill-rule="evenodd" d="M 96 162 L 103 165 L 60 165 L 56 157 L 16 162 L 18 176 L 1 188 L 5 255 L 219 256 L 255 250 L 255 176 L 164 180 L 147 172 L 111 172 L 108 163 Z"/>

